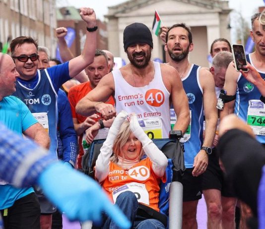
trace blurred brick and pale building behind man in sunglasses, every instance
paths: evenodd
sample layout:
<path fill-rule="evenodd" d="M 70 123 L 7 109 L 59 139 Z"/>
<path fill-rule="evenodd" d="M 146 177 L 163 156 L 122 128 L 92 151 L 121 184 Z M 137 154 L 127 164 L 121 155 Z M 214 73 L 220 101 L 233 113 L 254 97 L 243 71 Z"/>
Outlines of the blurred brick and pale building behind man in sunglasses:
<path fill-rule="evenodd" d="M 55 0 L 0 0 L 0 42 L 7 37 L 32 36 L 55 51 Z"/>

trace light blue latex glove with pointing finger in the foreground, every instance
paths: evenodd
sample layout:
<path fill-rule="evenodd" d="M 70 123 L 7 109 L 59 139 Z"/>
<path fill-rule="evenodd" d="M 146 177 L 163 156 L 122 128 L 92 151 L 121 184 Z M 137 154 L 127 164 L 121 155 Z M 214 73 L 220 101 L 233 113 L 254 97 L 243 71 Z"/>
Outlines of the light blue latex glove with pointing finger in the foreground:
<path fill-rule="evenodd" d="M 62 162 L 47 167 L 39 176 L 38 183 L 45 195 L 71 221 L 93 221 L 98 224 L 102 212 L 105 212 L 120 228 L 129 229 L 131 226 L 96 181 Z"/>

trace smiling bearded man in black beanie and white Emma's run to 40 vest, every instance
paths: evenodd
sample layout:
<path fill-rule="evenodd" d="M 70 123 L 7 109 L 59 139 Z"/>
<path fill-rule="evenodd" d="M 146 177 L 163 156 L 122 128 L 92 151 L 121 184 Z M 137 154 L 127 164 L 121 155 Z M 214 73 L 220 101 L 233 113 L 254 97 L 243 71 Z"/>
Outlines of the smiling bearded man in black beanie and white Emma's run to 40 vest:
<path fill-rule="evenodd" d="M 175 68 L 151 61 L 152 49 L 148 27 L 133 23 L 125 28 L 124 50 L 130 63 L 106 75 L 76 106 L 79 114 L 87 116 L 96 111 L 105 119 L 90 127 L 92 133 L 125 110 L 137 114 L 149 137 L 168 138 L 171 104 L 178 116 L 174 130 L 186 131 L 190 115 L 180 76 Z M 104 103 L 111 95 L 116 100 L 115 108 Z"/>

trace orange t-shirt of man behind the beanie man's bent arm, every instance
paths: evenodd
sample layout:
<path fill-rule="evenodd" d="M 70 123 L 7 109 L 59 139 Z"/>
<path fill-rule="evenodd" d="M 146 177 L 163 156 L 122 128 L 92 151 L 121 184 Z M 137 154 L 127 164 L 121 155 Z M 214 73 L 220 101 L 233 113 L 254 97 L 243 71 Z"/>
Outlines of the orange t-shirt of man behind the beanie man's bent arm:
<path fill-rule="evenodd" d="M 76 112 L 75 112 L 76 104 L 82 98 L 84 98 L 87 95 L 87 93 L 90 92 L 91 90 L 92 90 L 92 88 L 90 86 L 90 82 L 85 82 L 85 83 L 81 83 L 81 84 L 78 84 L 78 85 L 71 87 L 69 92 L 68 92 L 68 100 L 70 102 L 72 117 L 76 118 L 78 123 L 84 122 L 84 120 L 86 119 L 86 116 L 83 116 L 81 114 L 76 114 Z M 111 96 L 106 101 L 106 103 L 114 105 L 115 102 L 114 102 L 113 97 Z M 82 147 L 82 134 L 79 135 L 78 144 L 79 144 L 79 154 L 77 157 L 77 165 L 78 165 L 78 168 L 81 169 L 82 168 L 82 166 L 81 166 L 82 156 L 84 155 L 84 150 Z"/>

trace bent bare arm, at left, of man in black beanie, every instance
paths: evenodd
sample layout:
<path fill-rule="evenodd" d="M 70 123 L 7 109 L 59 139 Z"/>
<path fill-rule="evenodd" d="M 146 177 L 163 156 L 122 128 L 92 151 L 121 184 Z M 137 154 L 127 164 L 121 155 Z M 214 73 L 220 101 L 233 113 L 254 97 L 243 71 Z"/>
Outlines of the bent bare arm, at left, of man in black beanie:
<path fill-rule="evenodd" d="M 92 91 L 77 103 L 75 107 L 76 113 L 89 116 L 99 112 L 105 120 L 111 119 L 116 116 L 116 110 L 111 104 L 105 104 L 104 102 L 114 94 L 114 91 L 113 75 L 109 73 L 99 81 L 98 85 Z M 110 111 L 112 112 L 109 113 Z"/>

